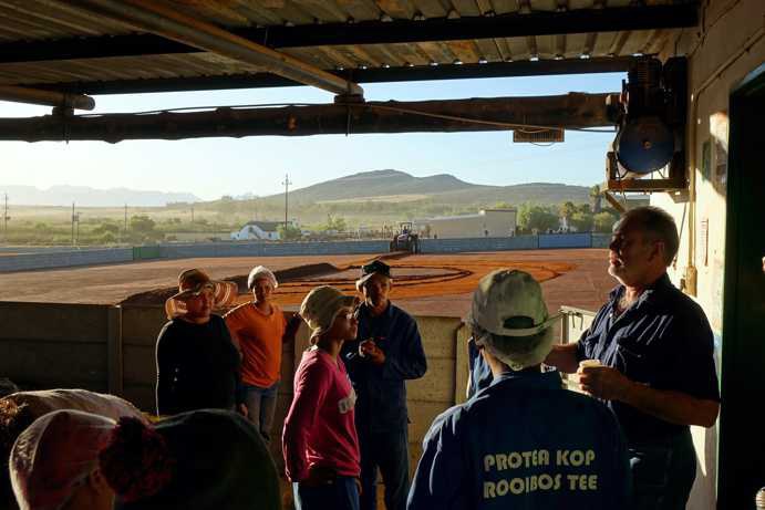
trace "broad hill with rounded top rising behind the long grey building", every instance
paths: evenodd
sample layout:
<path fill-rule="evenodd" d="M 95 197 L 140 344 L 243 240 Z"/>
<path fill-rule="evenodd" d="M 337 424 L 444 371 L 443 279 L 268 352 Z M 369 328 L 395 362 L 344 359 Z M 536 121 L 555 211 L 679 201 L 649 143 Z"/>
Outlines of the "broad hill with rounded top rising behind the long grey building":
<path fill-rule="evenodd" d="M 515 186 L 484 186 L 459 180 L 449 174 L 414 177 L 400 170 L 362 171 L 290 191 L 294 205 L 318 201 L 409 201 L 432 199 L 446 204 L 494 204 L 505 201 L 519 205 L 589 201 L 587 186 L 555 183 L 530 183 Z M 272 195 L 266 200 L 283 200 Z"/>

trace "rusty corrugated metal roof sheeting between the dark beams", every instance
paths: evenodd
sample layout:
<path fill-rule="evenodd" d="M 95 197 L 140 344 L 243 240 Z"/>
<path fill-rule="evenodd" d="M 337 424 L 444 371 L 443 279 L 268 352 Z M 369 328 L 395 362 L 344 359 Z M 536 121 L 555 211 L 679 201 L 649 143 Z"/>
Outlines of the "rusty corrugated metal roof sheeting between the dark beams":
<path fill-rule="evenodd" d="M 556 13 L 578 9 L 623 8 L 630 0 L 186 0 L 167 1 L 187 15 L 228 30 L 308 27 L 387 20 Z M 672 4 L 654 0 L 651 6 Z M 678 2 L 674 2 L 678 3 Z M 680 2 L 688 3 L 688 2 Z M 578 59 L 654 53 L 674 29 L 528 35 L 382 44 L 332 44 L 279 51 L 324 70 L 455 65 L 459 63 Z M 208 52 L 135 54 L 13 61 L 3 44 L 38 43 L 55 49 L 89 38 L 138 35 L 128 25 L 56 0 L 0 0 L 0 84 L 38 85 L 146 79 L 225 76 L 258 73 L 255 65 Z M 267 33 L 267 32 L 266 32 Z M 83 39 L 84 38 L 84 39 Z M 262 41 L 257 41 L 262 42 Z M 268 41 L 265 41 L 268 44 Z M 94 42 L 95 44 L 95 42 Z M 97 52 L 97 49 L 93 51 Z"/>

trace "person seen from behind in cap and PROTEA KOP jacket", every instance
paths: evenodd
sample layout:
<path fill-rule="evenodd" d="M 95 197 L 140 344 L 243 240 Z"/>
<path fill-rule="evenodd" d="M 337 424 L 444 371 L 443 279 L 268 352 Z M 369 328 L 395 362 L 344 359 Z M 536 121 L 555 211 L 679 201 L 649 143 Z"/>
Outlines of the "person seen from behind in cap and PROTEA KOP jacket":
<path fill-rule="evenodd" d="M 410 510 L 628 508 L 616 418 L 541 370 L 556 321 L 530 274 L 498 270 L 480 280 L 468 323 L 494 381 L 433 421 Z"/>

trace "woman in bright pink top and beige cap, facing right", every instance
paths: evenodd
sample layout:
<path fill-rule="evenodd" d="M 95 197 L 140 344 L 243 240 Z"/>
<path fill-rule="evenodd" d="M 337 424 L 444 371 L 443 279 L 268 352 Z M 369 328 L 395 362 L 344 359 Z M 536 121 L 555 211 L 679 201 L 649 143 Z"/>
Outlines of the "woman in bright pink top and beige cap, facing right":
<path fill-rule="evenodd" d="M 356 298 L 323 285 L 300 306 L 312 330 L 311 347 L 294 374 L 281 438 L 297 510 L 359 510 L 355 393 L 339 356 L 343 342 L 355 339 L 356 304 Z"/>

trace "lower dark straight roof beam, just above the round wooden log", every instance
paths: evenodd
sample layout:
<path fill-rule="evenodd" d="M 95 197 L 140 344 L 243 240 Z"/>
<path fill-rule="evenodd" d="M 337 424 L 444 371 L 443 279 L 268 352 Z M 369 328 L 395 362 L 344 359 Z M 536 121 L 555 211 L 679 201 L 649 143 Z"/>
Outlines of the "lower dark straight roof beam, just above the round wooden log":
<path fill-rule="evenodd" d="M 369 67 L 333 71 L 355 83 L 417 82 L 427 80 L 464 80 L 478 77 L 546 76 L 557 74 L 620 73 L 629 71 L 633 56 L 599 59 L 541 60 L 538 62 L 488 62 L 486 64 L 421 65 Z M 38 84 L 39 89 L 83 94 L 144 94 L 152 92 L 210 91 L 226 89 L 261 89 L 300 85 L 291 80 L 267 73 L 230 74 L 226 76 L 185 76 L 100 82 Z"/>

